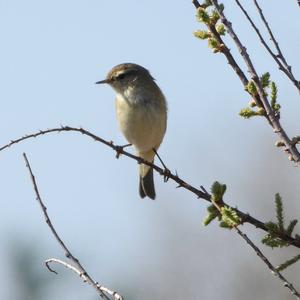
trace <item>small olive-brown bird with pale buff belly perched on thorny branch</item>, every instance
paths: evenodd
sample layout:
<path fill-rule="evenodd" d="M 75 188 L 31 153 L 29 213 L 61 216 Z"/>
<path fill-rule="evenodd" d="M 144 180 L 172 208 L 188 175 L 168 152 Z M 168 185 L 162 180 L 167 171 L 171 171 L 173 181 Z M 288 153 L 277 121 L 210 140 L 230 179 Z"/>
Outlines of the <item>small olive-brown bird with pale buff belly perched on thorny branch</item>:
<path fill-rule="evenodd" d="M 106 79 L 96 82 L 103 83 L 117 93 L 117 120 L 125 138 L 138 156 L 153 162 L 167 127 L 167 102 L 154 78 L 144 67 L 124 63 L 113 67 Z M 139 173 L 140 196 L 154 200 L 153 169 L 141 164 Z"/>

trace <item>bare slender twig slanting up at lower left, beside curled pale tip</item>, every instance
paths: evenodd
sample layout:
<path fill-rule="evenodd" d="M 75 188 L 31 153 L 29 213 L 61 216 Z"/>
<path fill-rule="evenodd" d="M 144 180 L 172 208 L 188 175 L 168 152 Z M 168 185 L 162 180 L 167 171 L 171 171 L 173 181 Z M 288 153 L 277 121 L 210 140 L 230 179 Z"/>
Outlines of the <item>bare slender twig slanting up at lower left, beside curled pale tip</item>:
<path fill-rule="evenodd" d="M 30 173 L 30 177 L 31 177 L 31 181 L 32 181 L 32 184 L 33 184 L 33 188 L 34 188 L 34 192 L 36 194 L 36 200 L 39 202 L 40 204 L 40 207 L 43 211 L 43 214 L 44 214 L 44 217 L 45 217 L 45 221 L 47 223 L 47 225 L 49 226 L 52 234 L 54 235 L 55 239 L 57 240 L 57 242 L 59 243 L 59 245 L 63 248 L 63 250 L 65 251 L 65 256 L 67 258 L 69 258 L 75 265 L 76 265 L 76 268 L 74 268 L 73 266 L 71 265 L 68 265 L 68 267 L 70 269 L 72 269 L 73 271 L 76 270 L 76 272 L 78 272 L 78 274 L 80 275 L 80 277 L 82 277 L 84 279 L 84 281 L 88 282 L 90 285 L 92 285 L 94 287 L 94 289 L 97 291 L 98 295 L 101 297 L 101 298 L 104 298 L 106 300 L 110 300 L 110 297 L 108 297 L 104 292 L 103 292 L 103 287 L 101 287 L 98 282 L 94 281 L 90 275 L 87 273 L 87 271 L 85 270 L 85 268 L 81 265 L 81 263 L 79 262 L 79 260 L 70 252 L 70 250 L 68 249 L 68 247 L 66 246 L 66 244 L 63 242 L 63 240 L 59 237 L 57 231 L 55 230 L 54 226 L 52 225 L 52 222 L 49 218 L 49 215 L 47 213 L 47 207 L 45 206 L 45 204 L 43 203 L 42 201 L 42 198 L 40 196 L 40 192 L 38 190 L 38 187 L 37 187 L 37 183 L 36 183 L 36 180 L 35 180 L 35 176 L 33 175 L 33 172 L 32 172 L 32 169 L 31 169 L 31 166 L 29 164 L 29 161 L 27 159 L 27 156 L 25 153 L 23 153 L 23 157 L 24 157 L 24 160 L 25 160 L 25 163 L 26 163 L 26 167 L 28 168 L 28 171 Z M 53 271 L 52 269 L 49 268 L 48 264 L 46 263 L 46 266 L 48 267 L 49 270 L 51 270 L 52 272 L 56 273 L 55 271 Z M 66 264 L 65 264 L 66 266 Z M 106 289 L 106 288 L 104 288 Z M 107 289 L 108 290 L 108 289 Z M 122 297 L 119 296 L 117 293 L 114 293 L 114 299 L 115 300 L 122 300 Z"/>

